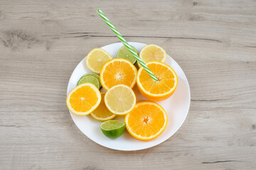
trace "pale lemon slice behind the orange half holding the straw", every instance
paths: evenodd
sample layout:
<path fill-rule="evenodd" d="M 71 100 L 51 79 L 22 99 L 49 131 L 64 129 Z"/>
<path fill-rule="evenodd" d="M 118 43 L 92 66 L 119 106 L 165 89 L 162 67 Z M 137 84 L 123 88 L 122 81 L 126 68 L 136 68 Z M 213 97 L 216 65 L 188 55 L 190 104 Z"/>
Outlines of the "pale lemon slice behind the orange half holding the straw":
<path fill-rule="evenodd" d="M 150 61 L 164 62 L 166 60 L 166 51 L 159 45 L 146 45 L 139 52 L 139 57 L 146 63 Z M 141 65 L 138 63 L 139 67 Z"/>

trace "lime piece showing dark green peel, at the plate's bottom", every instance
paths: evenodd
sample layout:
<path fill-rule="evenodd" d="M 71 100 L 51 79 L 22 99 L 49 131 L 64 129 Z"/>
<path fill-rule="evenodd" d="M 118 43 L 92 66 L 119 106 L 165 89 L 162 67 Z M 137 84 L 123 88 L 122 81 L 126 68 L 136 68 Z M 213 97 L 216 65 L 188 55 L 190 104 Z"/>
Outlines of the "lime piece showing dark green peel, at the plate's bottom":
<path fill-rule="evenodd" d="M 125 124 L 119 120 L 107 120 L 100 124 L 103 134 L 112 139 L 117 138 L 124 132 Z"/>

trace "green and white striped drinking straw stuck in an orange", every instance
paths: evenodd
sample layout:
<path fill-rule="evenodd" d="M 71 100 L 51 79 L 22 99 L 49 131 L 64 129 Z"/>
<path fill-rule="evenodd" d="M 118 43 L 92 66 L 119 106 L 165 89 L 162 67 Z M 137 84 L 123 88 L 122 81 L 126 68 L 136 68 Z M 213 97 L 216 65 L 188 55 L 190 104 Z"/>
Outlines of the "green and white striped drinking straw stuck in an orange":
<path fill-rule="evenodd" d="M 117 35 L 117 38 L 119 38 L 119 40 L 121 40 L 121 42 L 124 44 L 125 47 L 127 47 L 127 49 L 129 50 L 129 52 L 132 53 L 132 55 L 134 55 L 134 57 L 138 60 L 139 64 L 141 64 L 141 66 L 146 70 L 146 72 L 149 74 L 149 76 L 154 79 L 154 81 L 158 81 L 158 79 L 156 78 L 156 76 L 150 71 L 149 67 L 146 66 L 146 64 L 142 61 L 142 59 L 139 57 L 139 55 L 137 55 L 137 52 L 135 52 L 132 47 L 128 44 L 128 42 L 126 40 L 124 40 L 124 38 L 122 37 L 122 35 L 118 32 L 117 28 L 115 28 L 113 26 L 113 24 L 110 22 L 110 20 L 104 15 L 104 13 L 102 13 L 102 11 L 100 9 L 97 10 L 97 13 L 100 15 L 100 17 L 105 21 L 105 23 L 107 23 L 107 26 L 110 27 L 110 29 L 115 33 L 115 35 Z"/>

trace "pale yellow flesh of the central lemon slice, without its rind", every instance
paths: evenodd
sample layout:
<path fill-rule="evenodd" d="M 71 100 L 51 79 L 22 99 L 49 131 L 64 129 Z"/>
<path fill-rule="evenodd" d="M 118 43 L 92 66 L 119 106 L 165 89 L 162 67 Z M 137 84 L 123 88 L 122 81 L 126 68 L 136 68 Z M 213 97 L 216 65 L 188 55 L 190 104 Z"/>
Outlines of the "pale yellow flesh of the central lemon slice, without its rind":
<path fill-rule="evenodd" d="M 108 95 L 105 96 L 105 101 L 107 101 L 107 105 L 110 106 L 113 111 L 123 113 L 134 105 L 134 96 L 131 94 L 131 91 L 131 89 L 117 86 L 114 90 L 110 89 L 110 91 L 108 91 Z"/>

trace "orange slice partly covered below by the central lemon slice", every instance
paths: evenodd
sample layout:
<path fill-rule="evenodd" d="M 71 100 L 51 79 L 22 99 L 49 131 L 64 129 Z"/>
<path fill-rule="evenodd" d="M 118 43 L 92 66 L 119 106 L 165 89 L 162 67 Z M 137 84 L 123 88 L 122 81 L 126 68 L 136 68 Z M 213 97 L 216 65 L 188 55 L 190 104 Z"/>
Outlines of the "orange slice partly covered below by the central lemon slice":
<path fill-rule="evenodd" d="M 117 84 L 132 88 L 136 83 L 137 69 L 128 60 L 115 58 L 104 64 L 100 72 L 100 82 L 105 90 Z"/>

